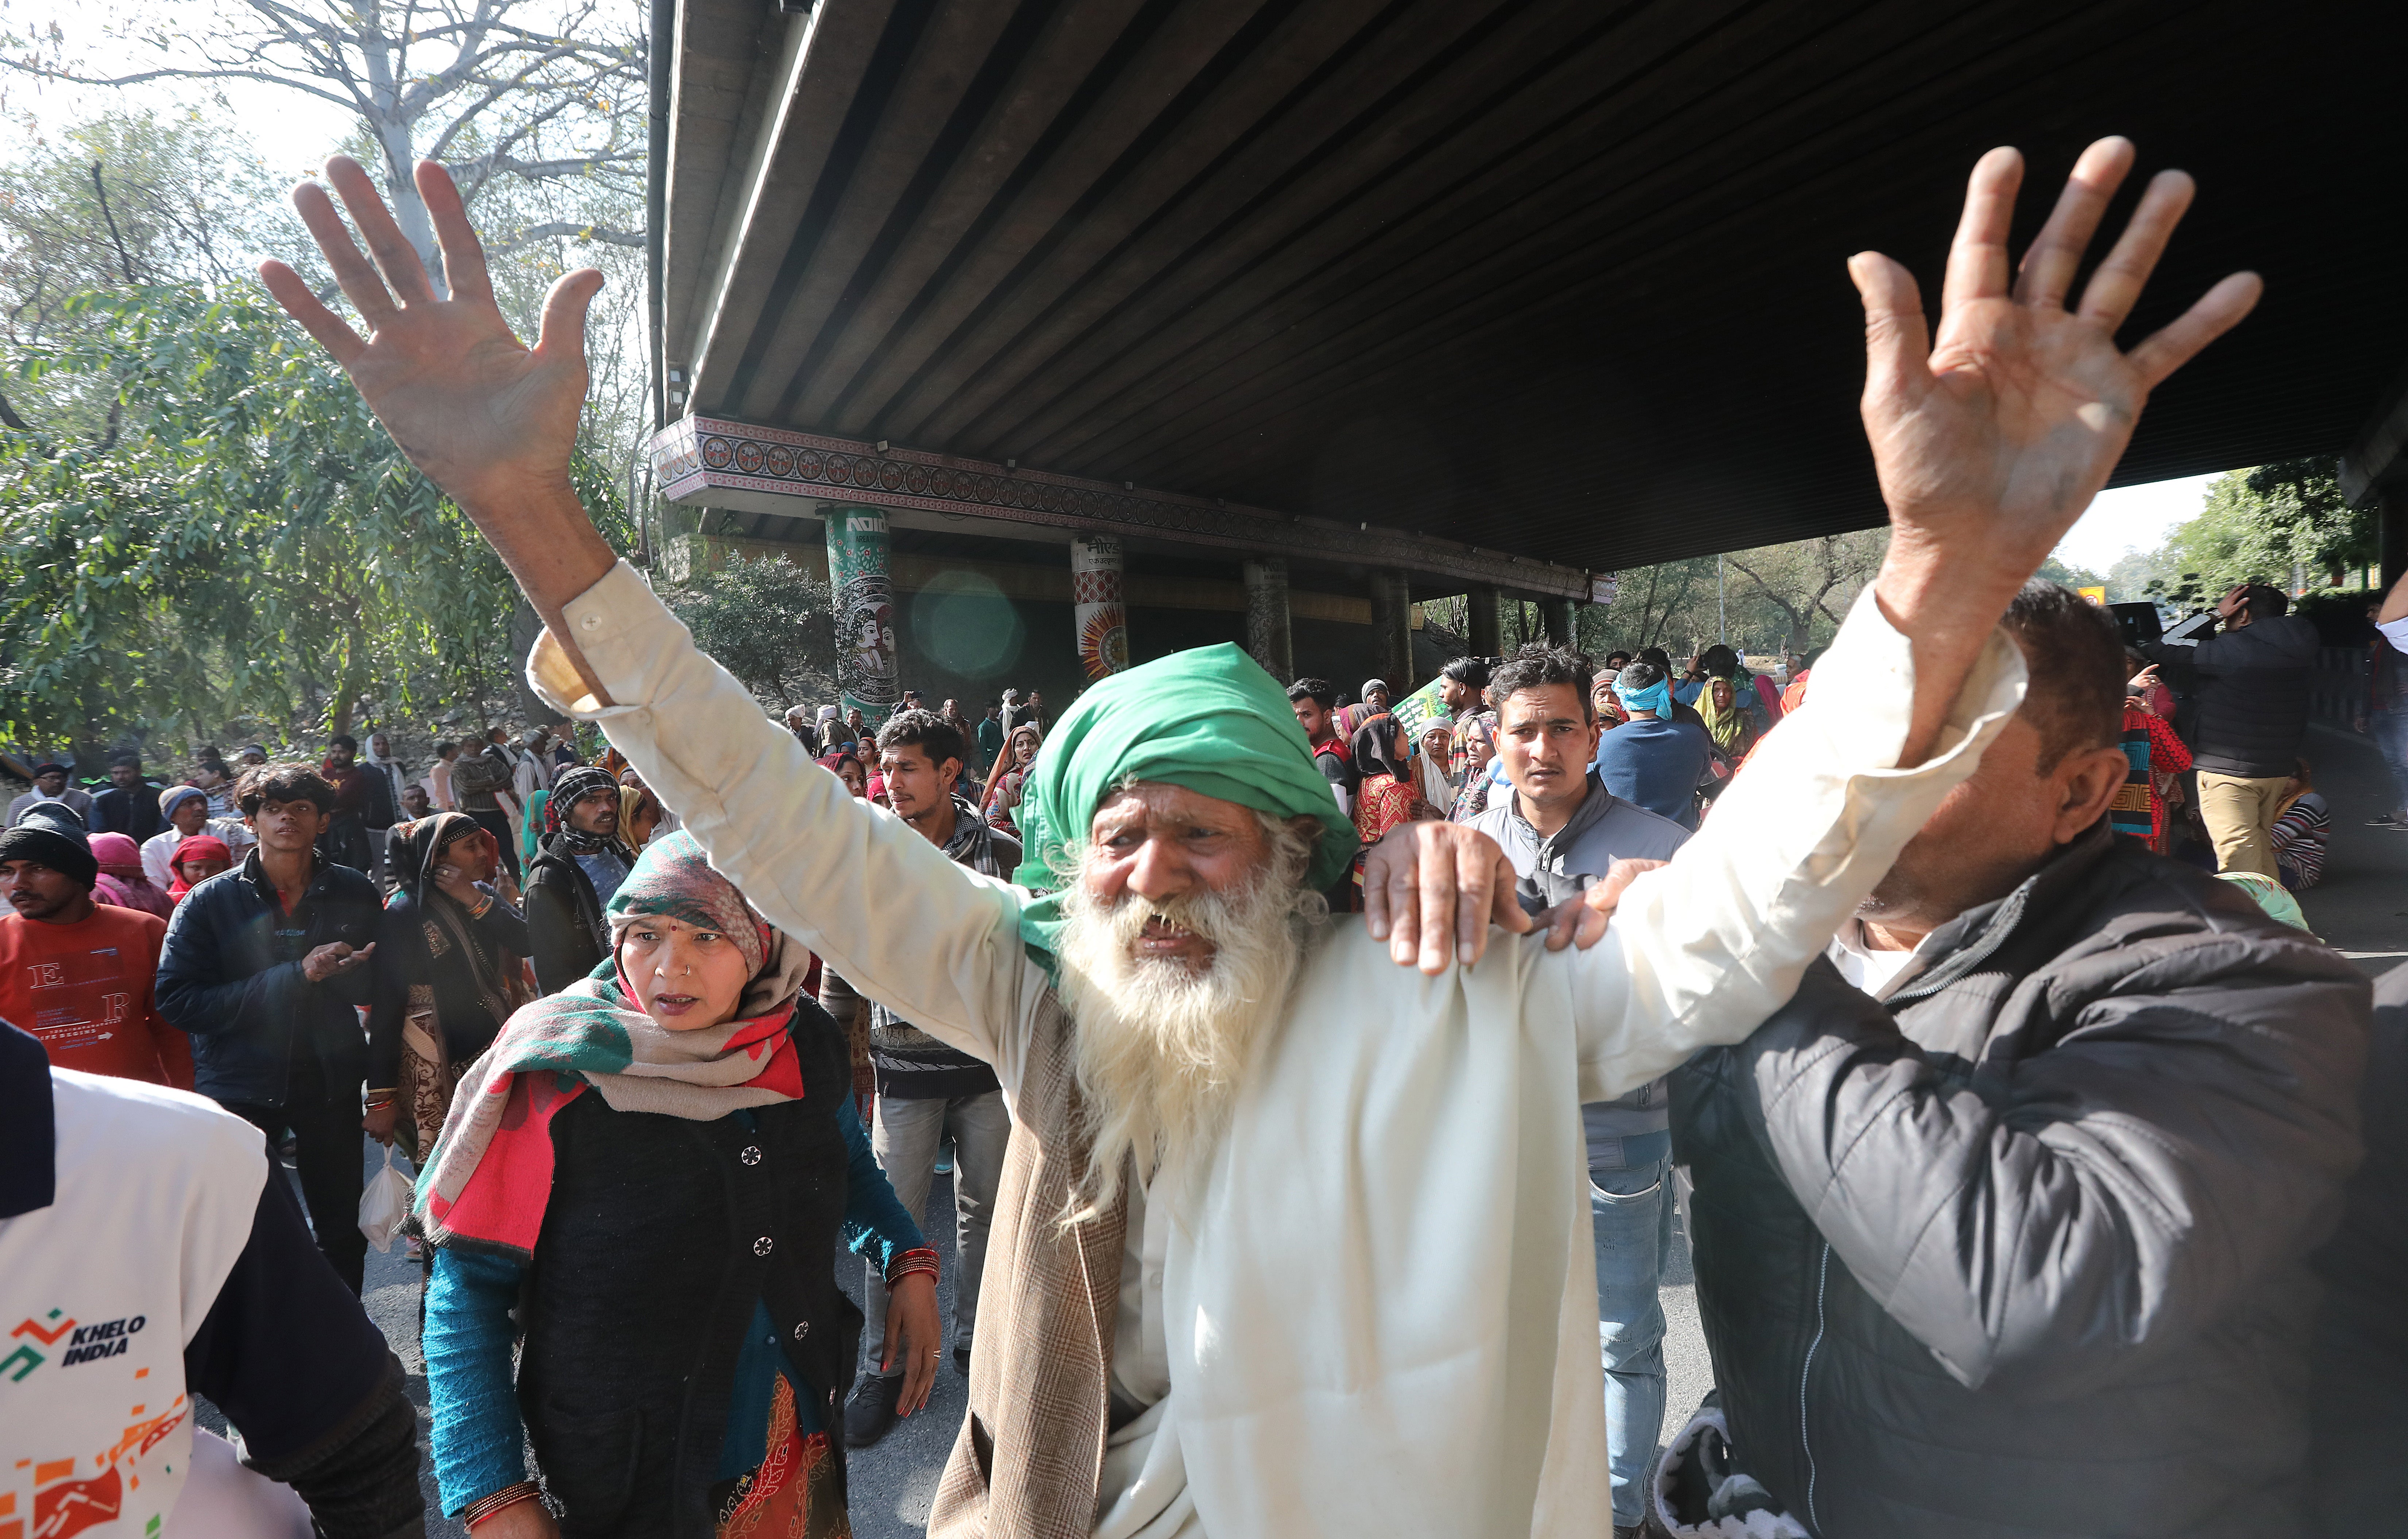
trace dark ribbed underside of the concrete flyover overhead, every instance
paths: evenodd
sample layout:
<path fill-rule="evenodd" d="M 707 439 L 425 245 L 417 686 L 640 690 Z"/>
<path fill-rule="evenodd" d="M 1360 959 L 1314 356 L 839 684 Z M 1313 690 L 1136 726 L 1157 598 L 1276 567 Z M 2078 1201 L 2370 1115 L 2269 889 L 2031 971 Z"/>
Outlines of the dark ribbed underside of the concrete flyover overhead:
<path fill-rule="evenodd" d="M 2201 181 L 2131 337 L 2268 279 L 2119 479 L 2341 453 L 2408 337 L 2396 7 L 660 2 L 669 417 L 1563 568 L 1861 527 L 1845 258 L 1936 299 L 1972 159 L 2020 241 L 2102 132 Z"/>

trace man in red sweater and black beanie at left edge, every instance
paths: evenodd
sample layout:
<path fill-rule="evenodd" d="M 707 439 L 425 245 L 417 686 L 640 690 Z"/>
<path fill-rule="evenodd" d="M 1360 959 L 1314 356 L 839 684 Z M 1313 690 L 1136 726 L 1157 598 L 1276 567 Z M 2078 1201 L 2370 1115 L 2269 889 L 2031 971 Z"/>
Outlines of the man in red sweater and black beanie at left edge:
<path fill-rule="evenodd" d="M 166 922 L 92 901 L 82 833 L 31 821 L 0 833 L 0 1019 L 60 1069 L 193 1089 L 193 1045 L 159 1019 L 152 975 Z"/>

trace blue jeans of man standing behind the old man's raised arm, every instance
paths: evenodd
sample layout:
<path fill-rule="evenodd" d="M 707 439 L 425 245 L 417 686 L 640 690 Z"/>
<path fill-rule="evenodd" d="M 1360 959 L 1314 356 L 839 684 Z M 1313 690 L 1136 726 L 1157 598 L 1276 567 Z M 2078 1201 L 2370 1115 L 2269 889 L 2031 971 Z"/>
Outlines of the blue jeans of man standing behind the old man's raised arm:
<path fill-rule="evenodd" d="M 1628 1527 L 1647 1513 L 1647 1467 L 1664 1433 L 1664 1305 L 1657 1284 L 1671 1255 L 1669 1132 L 1589 1146 L 1589 1219 L 1597 1228 L 1597 1346 L 1606 1366 L 1613 1522 Z"/>

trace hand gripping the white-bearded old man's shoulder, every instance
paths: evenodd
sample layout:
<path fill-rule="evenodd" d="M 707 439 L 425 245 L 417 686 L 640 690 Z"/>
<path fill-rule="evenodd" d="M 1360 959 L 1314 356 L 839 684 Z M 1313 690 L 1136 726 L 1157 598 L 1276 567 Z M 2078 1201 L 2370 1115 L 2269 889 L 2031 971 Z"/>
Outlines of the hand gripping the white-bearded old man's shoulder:
<path fill-rule="evenodd" d="M 1515 934 L 1531 920 L 1515 903 L 1515 872 L 1498 841 L 1469 824 L 1389 829 L 1363 857 L 1363 922 L 1397 966 L 1435 978 L 1488 951 L 1488 925 Z"/>

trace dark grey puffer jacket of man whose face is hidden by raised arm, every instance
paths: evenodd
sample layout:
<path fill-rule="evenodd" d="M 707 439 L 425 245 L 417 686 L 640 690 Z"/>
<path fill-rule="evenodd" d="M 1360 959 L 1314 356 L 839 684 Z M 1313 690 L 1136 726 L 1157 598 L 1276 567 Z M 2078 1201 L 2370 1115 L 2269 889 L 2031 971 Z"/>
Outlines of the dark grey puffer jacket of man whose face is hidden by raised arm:
<path fill-rule="evenodd" d="M 1674 1074 L 1739 1462 L 1828 1539 L 2307 1534 L 2367 983 L 2100 821 Z"/>

